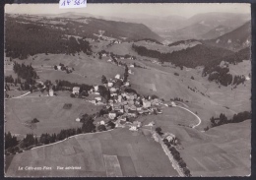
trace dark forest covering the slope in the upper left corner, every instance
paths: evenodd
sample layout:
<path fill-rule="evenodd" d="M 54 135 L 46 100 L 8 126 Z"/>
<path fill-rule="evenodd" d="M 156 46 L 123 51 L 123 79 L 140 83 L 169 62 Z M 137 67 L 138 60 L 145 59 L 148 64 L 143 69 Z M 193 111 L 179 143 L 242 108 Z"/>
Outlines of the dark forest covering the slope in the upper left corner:
<path fill-rule="evenodd" d="M 6 56 L 26 59 L 39 53 L 91 54 L 90 43 L 85 38 L 67 36 L 64 31 L 35 23 L 22 24 L 6 17 Z"/>

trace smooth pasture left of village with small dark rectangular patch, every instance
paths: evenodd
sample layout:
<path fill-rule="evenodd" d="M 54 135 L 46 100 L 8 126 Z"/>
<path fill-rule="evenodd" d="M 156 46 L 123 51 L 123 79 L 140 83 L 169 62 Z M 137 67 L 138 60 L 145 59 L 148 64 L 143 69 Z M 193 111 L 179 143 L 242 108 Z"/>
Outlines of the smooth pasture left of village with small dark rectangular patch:
<path fill-rule="evenodd" d="M 32 94 L 30 94 L 32 95 Z M 81 113 L 93 114 L 100 106 L 83 99 L 69 96 L 44 96 L 9 99 L 5 101 L 5 132 L 26 135 L 33 133 L 58 133 L 61 129 L 81 127 L 75 121 Z M 63 109 L 65 103 L 72 103 L 71 109 Z M 26 121 L 37 118 L 34 129 L 26 125 Z"/>

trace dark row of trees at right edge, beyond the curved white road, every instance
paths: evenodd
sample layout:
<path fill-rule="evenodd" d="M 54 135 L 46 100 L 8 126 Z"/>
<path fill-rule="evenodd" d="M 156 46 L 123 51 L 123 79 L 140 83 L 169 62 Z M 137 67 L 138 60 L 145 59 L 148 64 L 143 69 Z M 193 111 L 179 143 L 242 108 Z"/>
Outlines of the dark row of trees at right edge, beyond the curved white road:
<path fill-rule="evenodd" d="M 224 113 L 221 113 L 220 116 L 217 118 L 211 117 L 210 121 L 211 121 L 211 126 L 216 127 L 216 126 L 221 126 L 227 123 L 239 123 L 247 119 L 251 119 L 251 112 L 243 111 L 243 112 L 239 112 L 238 114 L 234 114 L 231 119 L 227 119 Z"/>

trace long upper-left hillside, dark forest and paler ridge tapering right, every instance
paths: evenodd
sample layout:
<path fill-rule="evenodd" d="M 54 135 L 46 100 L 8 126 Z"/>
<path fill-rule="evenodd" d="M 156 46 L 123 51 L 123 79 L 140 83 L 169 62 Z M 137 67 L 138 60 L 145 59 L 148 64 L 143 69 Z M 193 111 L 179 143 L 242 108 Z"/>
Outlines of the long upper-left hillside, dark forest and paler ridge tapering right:
<path fill-rule="evenodd" d="M 104 36 L 111 38 L 160 40 L 160 36 L 145 25 L 95 18 L 70 20 L 56 17 L 6 15 L 5 25 L 6 56 L 20 59 L 26 59 L 37 53 L 86 52 L 91 54 L 90 43 L 85 37 L 97 39 L 99 30 Z"/>

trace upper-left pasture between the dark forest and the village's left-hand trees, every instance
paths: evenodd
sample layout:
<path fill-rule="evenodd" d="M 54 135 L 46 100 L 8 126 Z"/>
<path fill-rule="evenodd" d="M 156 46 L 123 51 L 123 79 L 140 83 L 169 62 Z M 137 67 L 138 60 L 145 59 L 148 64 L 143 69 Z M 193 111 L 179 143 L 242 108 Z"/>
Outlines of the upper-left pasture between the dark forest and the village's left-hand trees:
<path fill-rule="evenodd" d="M 32 60 L 34 58 L 34 60 Z M 17 60 L 17 62 L 20 62 Z M 67 80 L 72 83 L 81 83 L 88 85 L 101 84 L 101 77 L 104 75 L 107 79 L 114 78 L 116 74 L 123 74 L 124 69 L 119 66 L 113 66 L 105 60 L 98 60 L 94 55 L 88 56 L 84 53 L 75 56 L 65 54 L 38 54 L 29 57 L 26 64 L 31 64 L 36 69 L 40 80 Z M 54 65 L 59 63 L 75 69 L 71 74 L 56 71 Z"/>

